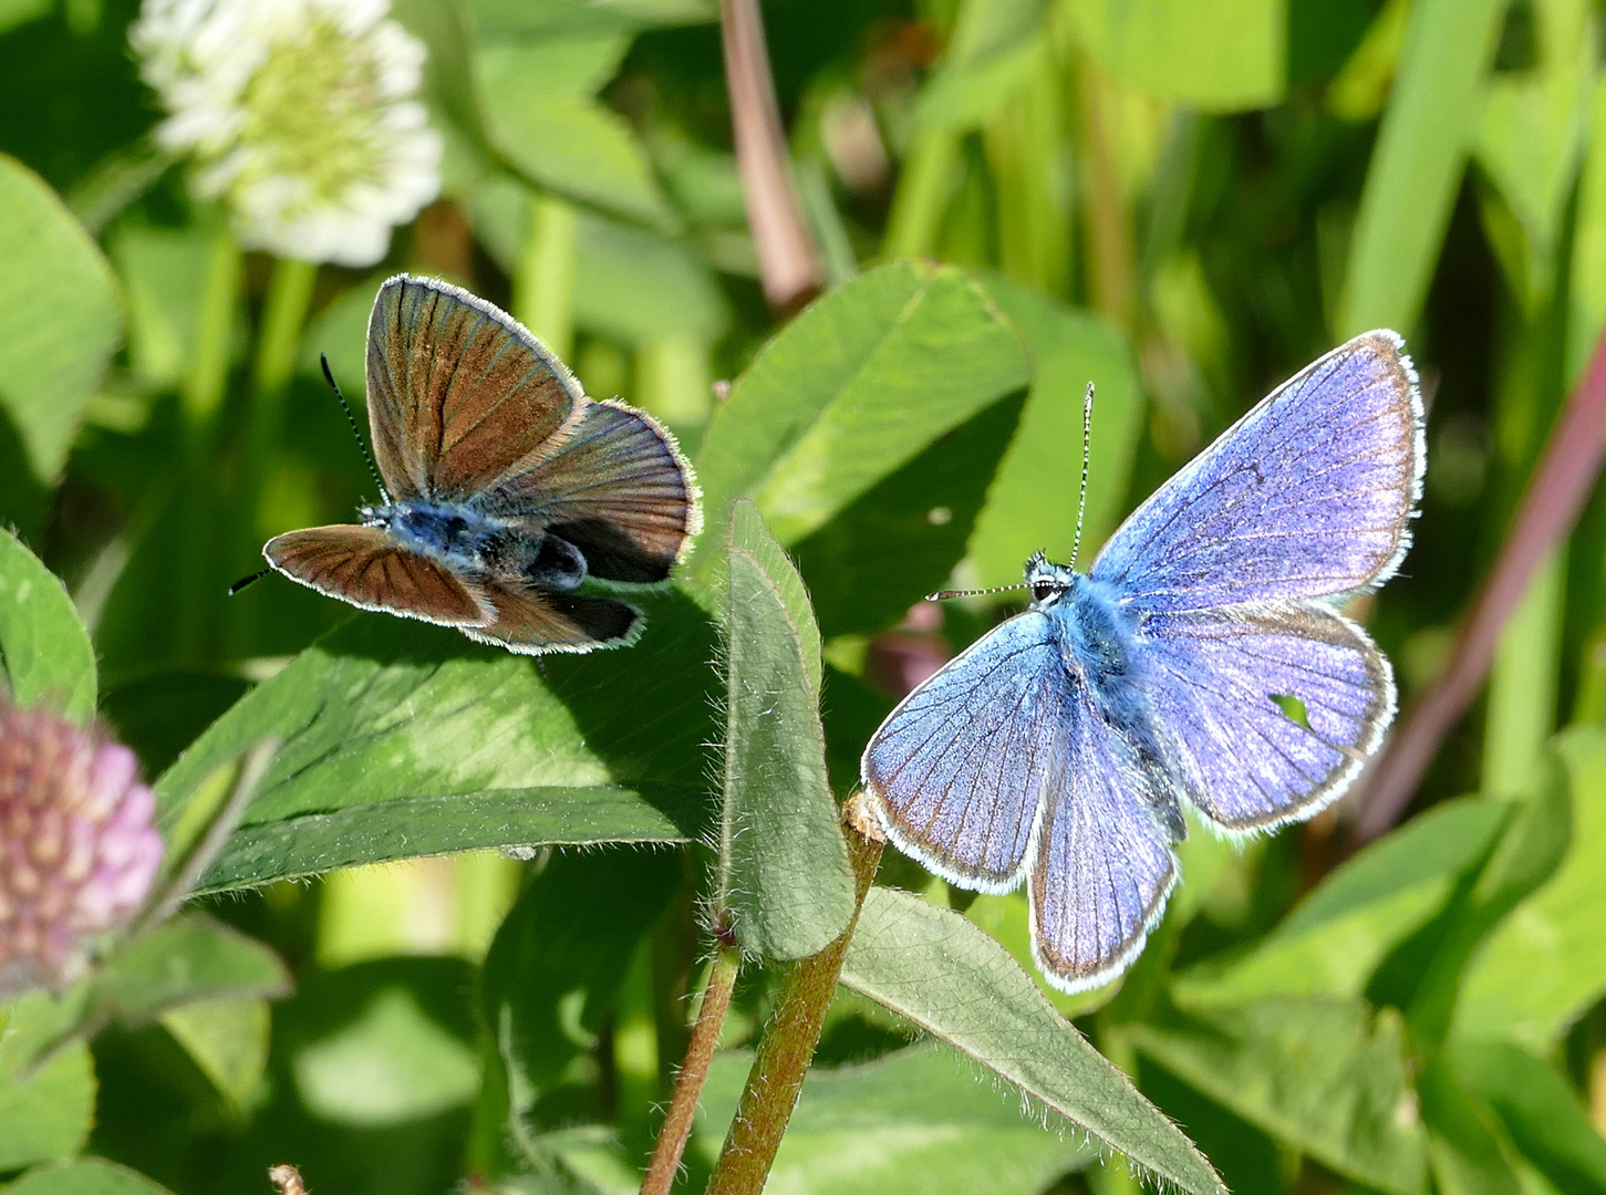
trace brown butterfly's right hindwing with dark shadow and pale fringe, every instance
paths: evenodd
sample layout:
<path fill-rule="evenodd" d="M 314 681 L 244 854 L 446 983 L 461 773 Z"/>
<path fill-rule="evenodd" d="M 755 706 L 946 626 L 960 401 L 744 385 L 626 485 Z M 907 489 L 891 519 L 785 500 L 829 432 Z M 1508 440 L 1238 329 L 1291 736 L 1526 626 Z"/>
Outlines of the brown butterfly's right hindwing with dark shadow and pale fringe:
<path fill-rule="evenodd" d="M 702 517 L 691 466 L 641 411 L 585 402 L 573 427 L 485 503 L 538 517 L 585 553 L 593 577 L 662 581 Z"/>

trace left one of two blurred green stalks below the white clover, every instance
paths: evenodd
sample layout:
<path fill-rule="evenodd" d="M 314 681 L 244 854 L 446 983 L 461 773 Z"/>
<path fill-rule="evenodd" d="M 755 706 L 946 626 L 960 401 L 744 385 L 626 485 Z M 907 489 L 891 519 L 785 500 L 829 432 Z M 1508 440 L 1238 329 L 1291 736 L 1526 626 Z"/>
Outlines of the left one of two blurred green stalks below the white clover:
<path fill-rule="evenodd" d="M 241 254 L 234 235 L 218 220 L 207 260 L 206 289 L 196 321 L 196 347 L 180 389 L 183 413 L 185 482 L 180 498 L 185 535 L 178 546 L 178 602 L 173 620 L 180 659 L 207 649 L 207 610 L 212 607 L 214 463 L 217 416 L 228 390 L 234 312 L 239 307 Z"/>

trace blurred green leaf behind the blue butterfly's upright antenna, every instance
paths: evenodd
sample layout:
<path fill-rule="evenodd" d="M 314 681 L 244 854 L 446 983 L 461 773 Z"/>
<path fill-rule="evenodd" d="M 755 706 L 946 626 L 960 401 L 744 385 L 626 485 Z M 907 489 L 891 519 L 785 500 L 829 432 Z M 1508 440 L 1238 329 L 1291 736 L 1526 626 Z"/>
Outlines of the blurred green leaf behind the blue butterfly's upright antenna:
<path fill-rule="evenodd" d="M 1143 432 L 1143 387 L 1126 337 L 1092 315 L 1005 278 L 989 276 L 984 286 L 1026 341 L 1034 369 L 1026 410 L 970 538 L 976 585 L 989 586 L 1020 581 L 1036 551 L 1071 557 L 1087 382 L 1097 395 L 1082 561 L 1092 561 L 1124 509 Z"/>

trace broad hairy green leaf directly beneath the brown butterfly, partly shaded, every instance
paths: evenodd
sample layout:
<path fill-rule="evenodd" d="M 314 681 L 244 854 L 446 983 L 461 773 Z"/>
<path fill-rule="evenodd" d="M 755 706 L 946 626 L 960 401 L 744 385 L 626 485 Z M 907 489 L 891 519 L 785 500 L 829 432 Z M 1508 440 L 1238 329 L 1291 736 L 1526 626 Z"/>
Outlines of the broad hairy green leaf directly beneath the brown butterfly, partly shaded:
<path fill-rule="evenodd" d="M 275 737 L 202 891 L 482 846 L 692 838 L 716 734 L 713 633 L 683 593 L 639 604 L 647 631 L 634 647 L 540 665 L 360 615 L 185 752 L 156 785 L 161 822 L 175 826 L 214 773 Z"/>

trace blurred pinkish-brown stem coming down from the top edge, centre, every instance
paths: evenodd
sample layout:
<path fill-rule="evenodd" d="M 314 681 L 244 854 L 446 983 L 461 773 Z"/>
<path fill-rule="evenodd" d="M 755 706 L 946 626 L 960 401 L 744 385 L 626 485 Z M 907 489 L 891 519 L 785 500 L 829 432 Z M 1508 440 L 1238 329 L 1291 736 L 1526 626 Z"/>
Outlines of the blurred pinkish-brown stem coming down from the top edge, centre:
<path fill-rule="evenodd" d="M 821 263 L 792 178 L 758 0 L 719 0 L 719 34 L 736 164 L 764 299 L 776 312 L 790 313 L 819 292 Z"/>

